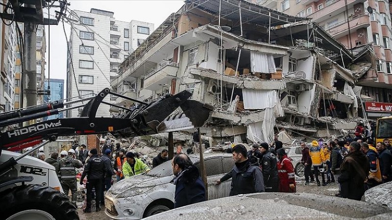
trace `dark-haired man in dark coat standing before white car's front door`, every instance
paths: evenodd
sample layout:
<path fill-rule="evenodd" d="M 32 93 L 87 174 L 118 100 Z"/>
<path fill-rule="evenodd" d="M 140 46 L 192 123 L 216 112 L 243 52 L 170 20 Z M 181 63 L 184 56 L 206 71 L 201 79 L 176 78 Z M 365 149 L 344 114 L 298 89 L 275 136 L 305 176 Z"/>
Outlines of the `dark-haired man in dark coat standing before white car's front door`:
<path fill-rule="evenodd" d="M 172 160 L 172 183 L 175 185 L 174 208 L 205 201 L 204 183 L 199 170 L 186 154 L 176 154 Z"/>

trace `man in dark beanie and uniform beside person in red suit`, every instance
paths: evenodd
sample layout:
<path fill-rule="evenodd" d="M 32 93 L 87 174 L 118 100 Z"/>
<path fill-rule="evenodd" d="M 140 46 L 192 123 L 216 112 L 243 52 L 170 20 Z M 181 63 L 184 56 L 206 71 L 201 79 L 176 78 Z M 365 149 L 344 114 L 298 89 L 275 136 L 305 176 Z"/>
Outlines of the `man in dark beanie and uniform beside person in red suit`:
<path fill-rule="evenodd" d="M 260 144 L 259 152 L 262 154 L 261 169 L 263 172 L 266 192 L 278 192 L 278 166 L 276 156 L 269 151 L 270 146 L 264 142 Z"/>

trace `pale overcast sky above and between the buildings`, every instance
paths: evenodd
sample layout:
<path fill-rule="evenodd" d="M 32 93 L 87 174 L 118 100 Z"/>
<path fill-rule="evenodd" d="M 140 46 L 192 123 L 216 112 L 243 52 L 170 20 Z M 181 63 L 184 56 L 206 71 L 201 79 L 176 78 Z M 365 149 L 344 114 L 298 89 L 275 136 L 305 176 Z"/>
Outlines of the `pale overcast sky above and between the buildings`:
<path fill-rule="evenodd" d="M 184 4 L 183 0 L 68 0 L 68 2 L 70 3 L 68 8 L 71 10 L 90 12 L 91 8 L 102 9 L 114 12 L 114 18 L 118 21 L 150 22 L 154 24 L 154 28 Z M 63 25 L 61 22 L 58 25 L 50 25 L 50 36 L 48 26 L 45 28 L 47 42 L 45 77 L 49 77 L 50 68 L 50 78 L 64 79 L 66 83 L 67 42 Z M 70 26 L 65 24 L 65 30 L 69 39 Z M 66 85 L 64 88 L 67 88 Z"/>

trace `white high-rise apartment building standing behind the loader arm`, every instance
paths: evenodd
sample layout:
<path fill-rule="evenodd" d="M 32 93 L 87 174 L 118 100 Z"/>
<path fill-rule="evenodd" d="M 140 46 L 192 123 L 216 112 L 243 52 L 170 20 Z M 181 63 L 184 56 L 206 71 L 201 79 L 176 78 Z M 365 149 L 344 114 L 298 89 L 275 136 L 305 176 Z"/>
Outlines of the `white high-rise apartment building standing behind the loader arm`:
<path fill-rule="evenodd" d="M 67 98 L 94 96 L 117 77 L 119 65 L 154 30 L 152 23 L 118 21 L 113 12 L 92 8 L 74 11 L 67 68 Z M 114 102 L 113 97 L 105 98 Z M 101 105 L 98 117 L 109 117 L 108 105 Z M 81 109 L 68 112 L 77 117 Z"/>

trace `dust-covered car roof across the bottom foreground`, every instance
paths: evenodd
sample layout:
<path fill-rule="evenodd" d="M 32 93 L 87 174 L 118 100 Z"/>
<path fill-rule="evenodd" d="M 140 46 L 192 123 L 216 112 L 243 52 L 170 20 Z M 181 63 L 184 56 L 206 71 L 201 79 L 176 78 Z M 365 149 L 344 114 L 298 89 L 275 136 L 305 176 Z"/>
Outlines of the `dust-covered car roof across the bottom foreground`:
<path fill-rule="evenodd" d="M 255 193 L 199 202 L 146 220 L 318 219 L 384 220 L 392 210 L 366 202 L 307 193 Z"/>

